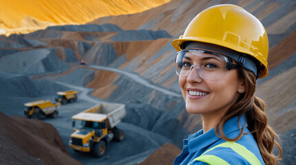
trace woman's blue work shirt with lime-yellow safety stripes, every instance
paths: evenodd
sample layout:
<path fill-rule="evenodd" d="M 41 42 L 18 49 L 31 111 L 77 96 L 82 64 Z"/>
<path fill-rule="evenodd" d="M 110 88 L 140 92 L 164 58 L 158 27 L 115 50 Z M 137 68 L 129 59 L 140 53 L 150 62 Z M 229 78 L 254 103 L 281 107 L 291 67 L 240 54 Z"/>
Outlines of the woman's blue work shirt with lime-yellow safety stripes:
<path fill-rule="evenodd" d="M 225 122 L 223 126 L 223 131 L 226 137 L 234 138 L 240 134 L 240 129 L 237 125 L 238 116 L 231 118 L 227 122 Z M 242 115 L 240 118 L 240 128 L 242 129 L 245 125 L 244 133 L 249 133 L 249 129 L 247 128 L 248 124 L 246 123 L 245 115 Z M 214 129 L 210 129 L 206 133 L 201 129 L 197 133 L 189 135 L 188 139 L 183 140 L 183 150 L 182 153 L 176 157 L 173 162 L 174 165 L 180 164 L 185 165 L 189 164 L 195 159 L 207 151 L 208 148 L 212 148 L 213 146 L 217 146 L 218 144 L 222 144 L 226 142 L 215 134 Z M 264 164 L 262 156 L 260 154 L 260 150 L 257 146 L 257 143 L 251 133 L 243 135 L 240 140 L 237 140 L 238 144 L 241 144 L 246 149 L 251 151 L 257 159 L 259 159 L 261 164 Z M 215 155 L 224 159 L 229 164 L 250 164 L 244 157 L 233 151 L 231 148 L 217 147 L 213 151 L 208 152 L 211 155 Z M 205 162 L 193 162 L 190 165 L 201 165 L 207 164 Z"/>

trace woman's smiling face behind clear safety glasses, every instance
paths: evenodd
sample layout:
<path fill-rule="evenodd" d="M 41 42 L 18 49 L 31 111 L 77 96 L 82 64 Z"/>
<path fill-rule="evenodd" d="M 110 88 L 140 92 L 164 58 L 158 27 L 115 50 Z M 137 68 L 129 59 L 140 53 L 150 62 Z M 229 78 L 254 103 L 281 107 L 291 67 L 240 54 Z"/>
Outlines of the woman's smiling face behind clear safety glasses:
<path fill-rule="evenodd" d="M 182 58 L 182 68 L 196 66 L 187 71 L 188 76 L 179 76 L 182 96 L 189 113 L 222 116 L 239 98 L 239 91 L 244 87 L 242 80 L 237 77 L 237 69 L 218 70 L 219 63 L 215 55 L 204 52 L 195 52 L 195 55 L 188 53 Z M 233 64 L 236 64 L 235 61 Z"/>

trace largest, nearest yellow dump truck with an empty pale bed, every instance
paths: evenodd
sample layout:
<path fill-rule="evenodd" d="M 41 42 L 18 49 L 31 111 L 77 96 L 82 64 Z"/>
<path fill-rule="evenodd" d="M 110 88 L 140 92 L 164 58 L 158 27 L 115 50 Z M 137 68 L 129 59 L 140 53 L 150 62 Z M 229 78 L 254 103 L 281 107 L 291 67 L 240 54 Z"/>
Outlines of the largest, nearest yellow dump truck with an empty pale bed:
<path fill-rule="evenodd" d="M 116 125 L 125 115 L 125 105 L 114 103 L 101 103 L 73 115 L 74 133 L 71 135 L 70 147 L 74 151 L 103 156 L 111 140 L 123 140 L 124 133 Z"/>

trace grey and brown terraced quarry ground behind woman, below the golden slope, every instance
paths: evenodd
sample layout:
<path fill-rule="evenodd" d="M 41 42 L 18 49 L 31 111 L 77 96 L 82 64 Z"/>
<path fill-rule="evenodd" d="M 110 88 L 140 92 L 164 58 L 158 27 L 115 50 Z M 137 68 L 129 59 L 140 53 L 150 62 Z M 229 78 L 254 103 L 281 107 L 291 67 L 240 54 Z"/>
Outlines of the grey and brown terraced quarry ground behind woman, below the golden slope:
<path fill-rule="evenodd" d="M 138 14 L 0 36 L 0 164 L 172 164 L 182 140 L 198 131 L 202 120 L 184 108 L 171 41 L 215 4 L 173 0 Z M 270 71 L 257 81 L 256 96 L 266 101 L 268 124 L 281 137 L 281 164 L 293 164 L 296 3 L 234 4 L 260 19 L 268 33 Z M 25 118 L 25 102 L 54 102 L 57 91 L 69 89 L 78 90 L 78 101 L 61 105 L 58 118 Z M 101 158 L 72 151 L 72 115 L 100 102 L 125 104 L 127 115 L 118 124 L 125 140 L 111 142 Z"/>

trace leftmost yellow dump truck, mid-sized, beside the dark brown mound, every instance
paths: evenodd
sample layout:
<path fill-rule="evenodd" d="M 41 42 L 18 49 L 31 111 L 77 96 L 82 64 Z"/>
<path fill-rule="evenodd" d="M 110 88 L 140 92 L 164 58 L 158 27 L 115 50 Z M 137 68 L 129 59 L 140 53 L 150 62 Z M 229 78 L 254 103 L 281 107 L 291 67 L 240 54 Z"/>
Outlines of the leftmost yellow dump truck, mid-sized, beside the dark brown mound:
<path fill-rule="evenodd" d="M 24 104 L 24 113 L 28 118 L 41 119 L 49 116 L 56 118 L 59 115 L 59 108 L 61 103 L 52 103 L 50 100 L 37 100 L 34 102 L 27 102 Z"/>

